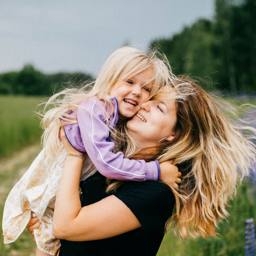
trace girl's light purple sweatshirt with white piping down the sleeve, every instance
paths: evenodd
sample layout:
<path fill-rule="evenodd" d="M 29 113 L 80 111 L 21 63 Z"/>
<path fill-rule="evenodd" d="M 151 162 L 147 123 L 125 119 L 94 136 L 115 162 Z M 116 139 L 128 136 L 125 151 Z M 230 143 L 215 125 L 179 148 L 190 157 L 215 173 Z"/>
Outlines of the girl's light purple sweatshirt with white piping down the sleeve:
<path fill-rule="evenodd" d="M 115 97 L 110 97 L 114 105 L 111 115 L 110 129 L 118 119 L 118 103 Z M 130 160 L 124 158 L 122 152 L 114 153 L 114 142 L 106 125 L 106 109 L 104 102 L 96 97 L 85 99 L 80 103 L 77 112 L 71 115 L 77 117 L 78 123 L 64 125 L 66 138 L 76 150 L 87 153 L 96 169 L 104 176 L 116 180 L 159 180 L 159 162 Z"/>

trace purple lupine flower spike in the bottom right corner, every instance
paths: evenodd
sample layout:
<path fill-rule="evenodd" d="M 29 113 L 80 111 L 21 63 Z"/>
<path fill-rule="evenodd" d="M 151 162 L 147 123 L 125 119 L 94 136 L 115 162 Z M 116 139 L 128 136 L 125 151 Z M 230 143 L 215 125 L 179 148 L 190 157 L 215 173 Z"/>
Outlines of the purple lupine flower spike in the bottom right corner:
<path fill-rule="evenodd" d="M 245 256 L 255 256 L 255 229 L 253 218 L 245 220 Z"/>

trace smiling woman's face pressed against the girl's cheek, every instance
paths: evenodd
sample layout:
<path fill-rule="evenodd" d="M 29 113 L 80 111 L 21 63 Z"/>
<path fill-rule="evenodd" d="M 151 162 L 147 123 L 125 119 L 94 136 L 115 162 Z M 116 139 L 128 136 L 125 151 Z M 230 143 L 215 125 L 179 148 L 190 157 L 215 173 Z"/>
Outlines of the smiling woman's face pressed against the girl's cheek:
<path fill-rule="evenodd" d="M 177 120 L 174 92 L 165 88 L 154 100 L 141 104 L 141 110 L 127 122 L 127 128 L 139 149 L 155 146 L 159 140 L 171 141 Z M 161 143 L 161 142 L 159 142 Z"/>

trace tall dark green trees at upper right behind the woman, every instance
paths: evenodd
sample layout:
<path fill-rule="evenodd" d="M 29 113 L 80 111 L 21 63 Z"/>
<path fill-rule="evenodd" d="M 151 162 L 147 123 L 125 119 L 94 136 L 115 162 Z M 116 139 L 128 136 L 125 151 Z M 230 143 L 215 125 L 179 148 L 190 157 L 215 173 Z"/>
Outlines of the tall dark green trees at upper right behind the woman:
<path fill-rule="evenodd" d="M 211 81 L 231 93 L 256 91 L 256 1 L 216 0 L 213 20 L 199 19 L 171 38 L 151 42 L 175 74 Z"/>

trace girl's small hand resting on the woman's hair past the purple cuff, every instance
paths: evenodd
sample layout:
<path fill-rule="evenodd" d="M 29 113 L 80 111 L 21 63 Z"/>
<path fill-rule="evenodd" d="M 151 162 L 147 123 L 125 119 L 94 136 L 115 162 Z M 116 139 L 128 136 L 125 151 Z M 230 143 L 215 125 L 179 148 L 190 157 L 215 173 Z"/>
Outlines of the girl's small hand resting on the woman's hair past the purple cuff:
<path fill-rule="evenodd" d="M 165 161 L 160 164 L 161 177 L 160 180 L 169 186 L 178 188 L 178 183 L 181 183 L 179 178 L 182 174 L 179 172 L 178 167 L 172 164 L 173 161 Z"/>

